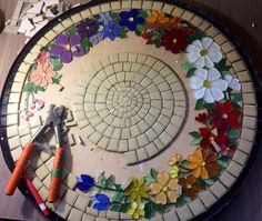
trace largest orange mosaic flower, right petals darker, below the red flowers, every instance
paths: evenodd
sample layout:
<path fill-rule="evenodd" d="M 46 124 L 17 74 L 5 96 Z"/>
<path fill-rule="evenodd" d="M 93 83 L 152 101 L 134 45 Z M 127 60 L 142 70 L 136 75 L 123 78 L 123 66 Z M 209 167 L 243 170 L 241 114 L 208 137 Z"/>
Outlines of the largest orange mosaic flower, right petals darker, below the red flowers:
<path fill-rule="evenodd" d="M 188 157 L 187 168 L 192 170 L 194 178 L 202 178 L 203 180 L 214 175 L 220 169 L 220 164 L 216 163 L 218 154 L 212 150 L 196 149 L 194 154 Z"/>

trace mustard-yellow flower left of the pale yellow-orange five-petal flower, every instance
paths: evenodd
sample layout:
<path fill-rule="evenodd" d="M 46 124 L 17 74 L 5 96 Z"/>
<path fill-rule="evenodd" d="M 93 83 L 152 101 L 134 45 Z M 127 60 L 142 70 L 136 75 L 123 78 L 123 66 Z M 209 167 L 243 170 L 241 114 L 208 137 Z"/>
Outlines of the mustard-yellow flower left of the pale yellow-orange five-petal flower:
<path fill-rule="evenodd" d="M 139 180 L 135 178 L 132 178 L 131 183 L 129 187 L 124 190 L 125 195 L 130 195 L 131 202 L 138 202 L 141 203 L 141 199 L 148 199 L 149 194 L 149 187 L 144 184 L 144 179 L 140 178 Z"/>

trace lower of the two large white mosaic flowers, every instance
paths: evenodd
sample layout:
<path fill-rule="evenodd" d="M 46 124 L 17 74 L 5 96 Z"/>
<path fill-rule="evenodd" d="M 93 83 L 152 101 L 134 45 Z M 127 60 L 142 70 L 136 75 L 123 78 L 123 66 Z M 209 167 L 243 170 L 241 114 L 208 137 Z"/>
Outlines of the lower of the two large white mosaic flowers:
<path fill-rule="evenodd" d="M 224 98 L 223 91 L 228 89 L 228 83 L 215 68 L 196 69 L 190 78 L 190 87 L 194 90 L 195 100 L 203 98 L 205 102 L 213 103 Z"/>

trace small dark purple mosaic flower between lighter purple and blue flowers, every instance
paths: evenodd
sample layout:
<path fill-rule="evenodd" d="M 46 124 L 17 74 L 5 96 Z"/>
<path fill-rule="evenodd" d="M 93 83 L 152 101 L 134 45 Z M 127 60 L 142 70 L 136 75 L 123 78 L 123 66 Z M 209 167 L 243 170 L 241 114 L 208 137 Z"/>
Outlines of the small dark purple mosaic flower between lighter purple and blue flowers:
<path fill-rule="evenodd" d="M 99 30 L 99 24 L 95 20 L 84 19 L 78 26 L 78 32 L 81 37 L 91 37 L 94 36 Z"/>

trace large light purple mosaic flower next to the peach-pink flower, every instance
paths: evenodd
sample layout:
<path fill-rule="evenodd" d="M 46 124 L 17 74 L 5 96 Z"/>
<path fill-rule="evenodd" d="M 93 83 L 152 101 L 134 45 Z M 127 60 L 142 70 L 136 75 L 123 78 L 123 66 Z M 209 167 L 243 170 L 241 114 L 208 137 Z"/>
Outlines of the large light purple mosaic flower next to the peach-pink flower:
<path fill-rule="evenodd" d="M 78 33 L 70 37 L 60 33 L 57 36 L 56 44 L 51 48 L 50 53 L 60 57 L 63 63 L 69 63 L 72 61 L 73 57 L 81 57 L 84 54 L 80 43 L 81 37 Z"/>

